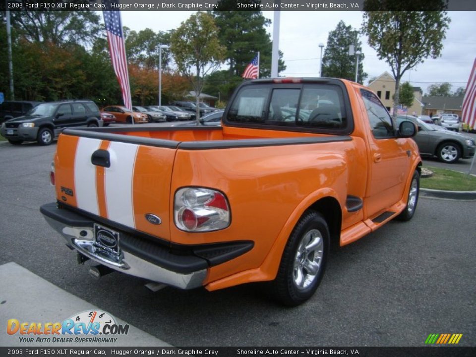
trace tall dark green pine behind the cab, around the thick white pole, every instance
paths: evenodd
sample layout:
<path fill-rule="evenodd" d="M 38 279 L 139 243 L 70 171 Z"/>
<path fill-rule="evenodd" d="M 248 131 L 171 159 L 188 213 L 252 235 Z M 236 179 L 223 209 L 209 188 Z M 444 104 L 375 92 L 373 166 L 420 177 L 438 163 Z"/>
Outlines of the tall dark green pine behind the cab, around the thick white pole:
<path fill-rule="evenodd" d="M 266 27 L 271 24 L 271 20 L 265 18 L 261 11 L 236 11 L 235 0 L 220 0 L 218 8 L 222 10 L 213 11 L 212 14 L 220 30 L 220 43 L 226 47 L 225 58 L 229 65 L 230 78 L 241 76 L 244 68 L 258 52 L 260 53 L 259 77 L 269 77 L 273 46 Z M 286 69 L 282 57 L 283 53 L 280 51 L 278 73 Z"/>

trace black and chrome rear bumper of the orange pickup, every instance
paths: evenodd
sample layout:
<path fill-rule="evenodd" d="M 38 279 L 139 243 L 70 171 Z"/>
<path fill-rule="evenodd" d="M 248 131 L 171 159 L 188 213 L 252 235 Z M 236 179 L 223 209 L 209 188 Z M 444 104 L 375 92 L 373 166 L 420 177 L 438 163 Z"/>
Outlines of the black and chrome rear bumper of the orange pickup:
<path fill-rule="evenodd" d="M 58 206 L 57 202 L 47 203 L 40 212 L 70 248 L 121 273 L 179 289 L 203 286 L 210 267 L 230 261 L 254 246 L 247 240 L 198 245 L 159 243 L 159 238 L 148 239 L 101 217 Z M 119 255 L 97 248 L 95 224 L 119 232 Z"/>

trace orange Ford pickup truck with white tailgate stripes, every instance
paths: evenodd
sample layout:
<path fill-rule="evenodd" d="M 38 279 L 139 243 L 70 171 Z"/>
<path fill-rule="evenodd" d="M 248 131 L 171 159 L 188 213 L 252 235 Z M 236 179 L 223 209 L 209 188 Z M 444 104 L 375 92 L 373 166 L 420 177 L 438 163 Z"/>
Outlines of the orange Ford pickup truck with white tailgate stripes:
<path fill-rule="evenodd" d="M 354 82 L 240 85 L 222 127 L 65 129 L 46 220 L 79 261 L 181 289 L 268 282 L 297 305 L 345 245 L 418 199 L 415 125 Z"/>

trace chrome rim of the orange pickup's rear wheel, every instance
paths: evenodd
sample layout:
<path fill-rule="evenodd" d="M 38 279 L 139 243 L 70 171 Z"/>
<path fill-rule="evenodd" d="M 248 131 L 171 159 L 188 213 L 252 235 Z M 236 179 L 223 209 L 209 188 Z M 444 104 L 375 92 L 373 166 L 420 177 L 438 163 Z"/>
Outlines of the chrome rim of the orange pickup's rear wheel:
<path fill-rule="evenodd" d="M 294 259 L 293 281 L 297 289 L 304 290 L 316 280 L 323 253 L 321 232 L 310 230 L 300 240 Z"/>

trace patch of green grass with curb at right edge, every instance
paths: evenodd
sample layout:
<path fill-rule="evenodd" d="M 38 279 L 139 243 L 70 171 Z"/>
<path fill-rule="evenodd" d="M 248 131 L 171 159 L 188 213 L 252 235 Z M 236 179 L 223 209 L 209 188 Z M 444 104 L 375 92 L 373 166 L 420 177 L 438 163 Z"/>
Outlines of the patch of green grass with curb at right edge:
<path fill-rule="evenodd" d="M 446 191 L 476 191 L 476 177 L 467 176 L 452 170 L 425 166 L 433 171 L 430 178 L 420 179 L 421 188 L 431 188 Z"/>

